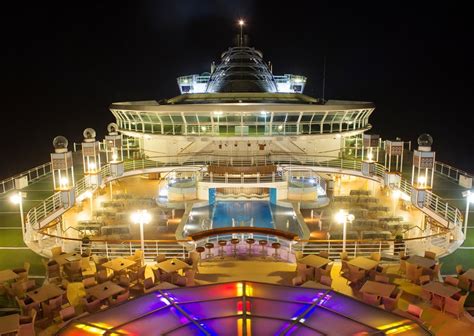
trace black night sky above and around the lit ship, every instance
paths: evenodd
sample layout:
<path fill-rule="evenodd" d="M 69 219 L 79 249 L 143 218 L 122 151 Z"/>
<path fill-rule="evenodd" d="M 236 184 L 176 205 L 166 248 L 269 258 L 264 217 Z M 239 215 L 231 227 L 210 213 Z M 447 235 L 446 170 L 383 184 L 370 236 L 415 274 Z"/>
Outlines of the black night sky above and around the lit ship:
<path fill-rule="evenodd" d="M 306 75 L 320 97 L 326 56 L 327 99 L 372 101 L 372 133 L 430 133 L 438 160 L 474 172 L 474 34 L 454 2 L 15 3 L 0 20 L 2 178 L 49 161 L 56 135 L 81 142 L 93 127 L 102 139 L 114 101 L 178 95 L 175 78 L 209 71 L 240 17 L 275 74 Z"/>

